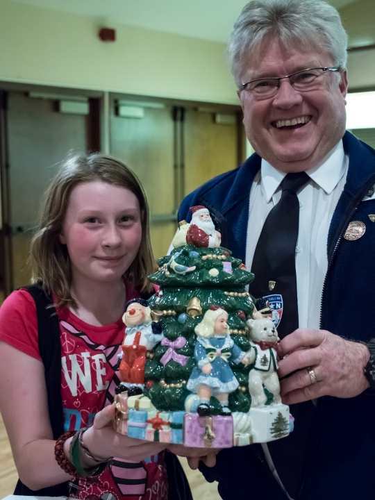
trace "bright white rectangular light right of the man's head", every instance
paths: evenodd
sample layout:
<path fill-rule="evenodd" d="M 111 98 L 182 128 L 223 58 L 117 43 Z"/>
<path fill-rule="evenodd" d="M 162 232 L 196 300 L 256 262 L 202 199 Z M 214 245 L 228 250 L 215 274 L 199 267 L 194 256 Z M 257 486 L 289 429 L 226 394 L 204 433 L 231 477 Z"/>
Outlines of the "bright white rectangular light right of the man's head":
<path fill-rule="evenodd" d="M 375 128 L 375 92 L 347 94 L 347 128 Z"/>

